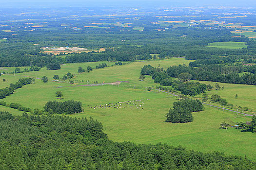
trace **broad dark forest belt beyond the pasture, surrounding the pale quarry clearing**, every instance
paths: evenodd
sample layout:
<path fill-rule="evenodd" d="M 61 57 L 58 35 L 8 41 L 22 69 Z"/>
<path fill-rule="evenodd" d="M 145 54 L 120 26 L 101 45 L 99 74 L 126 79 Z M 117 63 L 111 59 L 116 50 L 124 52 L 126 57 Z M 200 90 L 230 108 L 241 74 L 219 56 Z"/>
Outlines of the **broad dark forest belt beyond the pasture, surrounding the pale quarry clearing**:
<path fill-rule="evenodd" d="M 48 69 L 59 69 L 59 65 L 63 63 L 152 59 L 150 54 L 159 54 L 159 58 L 185 57 L 187 60 L 212 60 L 212 58 L 217 59 L 219 56 L 228 56 L 222 57 L 221 61 L 234 63 L 236 59 L 240 59 L 254 63 L 255 60 L 251 56 L 256 53 L 255 42 L 247 37 L 231 38 L 232 35 L 230 30 L 225 28 L 209 30 L 177 27 L 170 28 L 164 33 L 155 29 L 143 32 L 135 30 L 120 32 L 118 30 L 117 32 L 112 31 L 110 34 L 106 34 L 105 31 L 101 32 L 100 29 L 91 29 L 86 34 L 84 31 L 69 30 L 67 33 L 61 29 L 58 31 L 38 29 L 31 33 L 22 32 L 21 37 L 10 37 L 9 41 L 0 44 L 0 67 L 47 66 Z M 65 38 L 59 39 L 60 36 Z M 248 48 L 216 49 L 205 47 L 211 42 L 223 41 L 246 42 Z M 39 47 L 66 46 L 67 44 L 86 47 L 87 45 L 90 48 L 105 48 L 106 51 L 73 52 L 62 58 L 44 53 L 39 47 L 33 47 L 31 42 L 39 43 Z M 29 46 L 29 44 L 31 45 Z"/>

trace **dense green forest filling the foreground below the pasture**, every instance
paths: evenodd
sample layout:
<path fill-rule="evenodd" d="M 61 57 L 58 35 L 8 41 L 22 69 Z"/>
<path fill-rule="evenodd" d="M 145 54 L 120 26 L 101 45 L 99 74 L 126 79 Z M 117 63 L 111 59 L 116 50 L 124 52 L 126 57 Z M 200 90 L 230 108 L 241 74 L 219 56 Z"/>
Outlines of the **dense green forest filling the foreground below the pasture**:
<path fill-rule="evenodd" d="M 219 152 L 113 142 L 102 128 L 94 119 L 0 112 L 1 169 L 256 169 L 253 161 Z"/>

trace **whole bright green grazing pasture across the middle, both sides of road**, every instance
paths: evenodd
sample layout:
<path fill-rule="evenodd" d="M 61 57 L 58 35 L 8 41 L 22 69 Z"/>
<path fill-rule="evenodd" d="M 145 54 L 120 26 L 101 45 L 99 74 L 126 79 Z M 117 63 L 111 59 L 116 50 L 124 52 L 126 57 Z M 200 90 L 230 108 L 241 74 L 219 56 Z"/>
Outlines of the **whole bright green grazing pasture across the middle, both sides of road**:
<path fill-rule="evenodd" d="M 24 85 L 17 89 L 15 94 L 8 96 L 0 101 L 18 102 L 32 109 L 43 109 L 44 104 L 49 100 L 56 100 L 55 92 L 60 90 L 64 95 L 64 100 L 81 101 L 84 113 L 71 115 L 71 117 L 92 117 L 102 122 L 104 132 L 114 141 L 131 141 L 135 143 L 167 143 L 170 145 L 182 145 L 188 149 L 196 151 L 211 152 L 220 151 L 227 154 L 235 154 L 244 156 L 252 160 L 256 160 L 256 153 L 251 152 L 256 149 L 255 134 L 246 132 L 241 133 L 240 130 L 229 128 L 228 130 L 219 129 L 219 124 L 226 121 L 231 125 L 239 121 L 250 121 L 248 117 L 235 117 L 235 114 L 221 109 L 205 107 L 202 112 L 193 113 L 195 120 L 185 124 L 165 123 L 165 115 L 177 99 L 165 93 L 157 93 L 156 91 L 148 92 L 145 90 L 147 86 L 156 86 L 151 76 L 146 76 L 145 81 L 138 80 L 140 69 L 147 64 L 154 67 L 169 67 L 179 64 L 188 64 L 182 58 L 172 58 L 165 60 L 137 61 L 126 63 L 122 66 L 113 66 L 102 69 L 95 69 L 89 73 L 77 73 L 78 67 L 87 68 L 101 63 L 107 63 L 108 66 L 115 62 L 95 62 L 95 63 L 76 63 L 62 65 L 60 70 L 46 70 L 42 68 L 40 71 L 27 72 L 26 76 L 38 77 L 46 75 L 52 78 L 57 74 L 62 77 L 67 72 L 75 75 L 74 80 L 90 80 L 90 82 L 116 82 L 129 81 L 129 83 L 121 83 L 118 85 L 101 85 L 101 86 L 76 86 L 68 83 L 60 83 L 49 81 L 44 84 L 41 80 L 36 79 L 36 84 Z M 24 73 L 14 75 L 2 75 L 0 78 L 6 78 L 8 85 L 15 82 L 19 78 L 24 77 Z M 205 82 L 209 84 L 209 82 Z M 78 85 L 84 85 L 78 83 Z M 214 84 L 214 82 L 211 82 Z M 1 87 L 4 87 L 0 82 Z M 221 97 L 227 99 L 228 102 L 243 102 L 245 105 L 253 108 L 255 95 L 251 91 L 256 91 L 254 86 L 250 85 L 232 85 L 220 84 L 224 86 L 224 90 L 208 91 L 210 94 L 220 94 Z M 63 86 L 62 88 L 57 88 Z M 237 92 L 236 92 L 237 91 Z M 238 92 L 239 91 L 239 92 Z M 233 99 L 235 93 L 238 99 Z M 234 93 L 234 94 L 233 94 Z M 246 93 L 250 93 L 247 95 Z M 124 102 L 131 100 L 143 100 L 145 102 L 143 110 L 136 107 L 132 108 L 97 108 L 90 106 L 106 104 L 110 102 Z M 150 100 L 147 100 L 150 99 Z M 242 103 L 240 103 L 241 105 Z M 8 110 L 9 109 L 9 110 Z M 16 115 L 22 114 L 18 110 L 0 106 L 0 110 L 6 110 Z"/>

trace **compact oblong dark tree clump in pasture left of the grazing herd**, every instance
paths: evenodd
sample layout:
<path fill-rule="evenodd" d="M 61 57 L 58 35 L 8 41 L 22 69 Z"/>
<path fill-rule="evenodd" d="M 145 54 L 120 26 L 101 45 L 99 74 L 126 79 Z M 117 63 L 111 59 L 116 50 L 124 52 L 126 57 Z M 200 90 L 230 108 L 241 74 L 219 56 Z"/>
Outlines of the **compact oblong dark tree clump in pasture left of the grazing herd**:
<path fill-rule="evenodd" d="M 77 101 L 48 101 L 44 105 L 44 111 L 55 114 L 74 114 L 82 112 L 82 103 Z"/>

